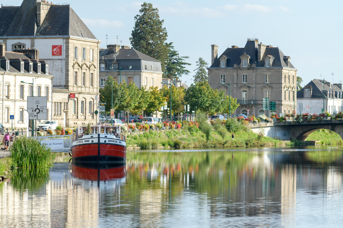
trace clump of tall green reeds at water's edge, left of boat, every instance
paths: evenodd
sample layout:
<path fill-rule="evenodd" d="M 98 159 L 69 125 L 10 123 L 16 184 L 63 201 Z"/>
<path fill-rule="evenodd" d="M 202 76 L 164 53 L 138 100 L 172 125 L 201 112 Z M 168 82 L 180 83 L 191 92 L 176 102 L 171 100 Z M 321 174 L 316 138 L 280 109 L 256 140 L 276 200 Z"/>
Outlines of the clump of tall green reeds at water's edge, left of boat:
<path fill-rule="evenodd" d="M 44 144 L 41 145 L 40 140 L 35 138 L 16 138 L 10 151 L 13 162 L 19 168 L 40 169 L 52 165 L 50 148 Z"/>

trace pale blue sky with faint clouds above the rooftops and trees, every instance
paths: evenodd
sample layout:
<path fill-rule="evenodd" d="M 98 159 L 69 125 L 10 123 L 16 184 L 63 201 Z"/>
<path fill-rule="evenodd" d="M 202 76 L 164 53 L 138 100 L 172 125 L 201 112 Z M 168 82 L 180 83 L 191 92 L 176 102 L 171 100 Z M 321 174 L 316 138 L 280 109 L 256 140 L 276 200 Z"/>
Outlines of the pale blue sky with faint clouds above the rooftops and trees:
<path fill-rule="evenodd" d="M 22 0 L 2 0 L 6 5 L 21 5 Z M 291 57 L 303 78 L 302 86 L 310 80 L 325 78 L 339 83 L 342 79 L 343 1 L 308 0 L 185 0 L 147 1 L 158 8 L 160 19 L 168 32 L 167 42 L 174 42 L 180 56 L 189 56 L 182 81 L 191 84 L 199 57 L 211 65 L 211 44 L 218 45 L 218 56 L 227 47 L 244 47 L 247 38 L 258 38 L 267 45 L 279 46 Z M 63 3 L 55 0 L 53 3 Z M 108 44 L 131 46 L 129 38 L 134 26 L 134 16 L 142 2 L 113 0 L 70 0 L 71 8 L 102 40 L 100 47 Z M 118 36 L 118 40 L 116 39 Z M 122 41 L 120 43 L 120 41 Z M 332 73 L 334 76 L 332 78 Z M 322 75 L 322 76 L 320 76 Z"/>

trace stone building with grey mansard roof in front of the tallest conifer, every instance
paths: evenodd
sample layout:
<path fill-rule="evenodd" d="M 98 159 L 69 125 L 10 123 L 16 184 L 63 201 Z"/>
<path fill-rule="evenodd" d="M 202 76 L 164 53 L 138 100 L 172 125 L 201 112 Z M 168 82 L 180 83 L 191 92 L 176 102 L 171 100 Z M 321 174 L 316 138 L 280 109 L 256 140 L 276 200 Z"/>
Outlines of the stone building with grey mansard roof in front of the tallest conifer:
<path fill-rule="evenodd" d="M 131 66 L 131 68 L 130 68 Z M 131 81 L 138 88 L 146 86 L 157 86 L 162 88 L 161 61 L 143 54 L 129 46 L 109 44 L 107 49 L 99 50 L 99 86 L 104 88 L 107 77 L 112 76 L 118 83 L 125 80 L 127 84 Z"/>

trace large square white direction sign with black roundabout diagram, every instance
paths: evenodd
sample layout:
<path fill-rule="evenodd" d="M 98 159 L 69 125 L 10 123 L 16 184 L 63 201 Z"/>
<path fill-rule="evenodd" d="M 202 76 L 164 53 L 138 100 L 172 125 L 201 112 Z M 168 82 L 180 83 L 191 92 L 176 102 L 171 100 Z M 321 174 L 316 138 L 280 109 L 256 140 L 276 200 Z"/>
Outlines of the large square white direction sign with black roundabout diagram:
<path fill-rule="evenodd" d="M 27 97 L 27 111 L 30 120 L 46 120 L 47 97 Z"/>

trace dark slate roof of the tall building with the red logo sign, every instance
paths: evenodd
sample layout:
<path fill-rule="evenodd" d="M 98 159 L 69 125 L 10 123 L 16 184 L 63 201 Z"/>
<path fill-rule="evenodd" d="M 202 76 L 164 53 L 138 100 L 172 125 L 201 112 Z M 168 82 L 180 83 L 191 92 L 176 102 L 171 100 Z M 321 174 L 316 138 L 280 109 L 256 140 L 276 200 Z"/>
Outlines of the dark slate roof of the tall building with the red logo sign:
<path fill-rule="evenodd" d="M 21 6 L 1 7 L 0 37 L 59 35 L 96 39 L 69 5 L 50 4 L 42 25 L 38 27 L 37 2 L 43 1 L 24 0 Z M 22 28 L 20 28 L 21 26 Z M 51 26 L 50 29 L 49 26 Z M 4 28 L 2 29 L 2 27 Z"/>

